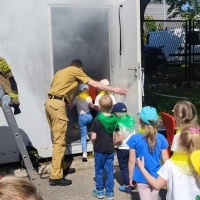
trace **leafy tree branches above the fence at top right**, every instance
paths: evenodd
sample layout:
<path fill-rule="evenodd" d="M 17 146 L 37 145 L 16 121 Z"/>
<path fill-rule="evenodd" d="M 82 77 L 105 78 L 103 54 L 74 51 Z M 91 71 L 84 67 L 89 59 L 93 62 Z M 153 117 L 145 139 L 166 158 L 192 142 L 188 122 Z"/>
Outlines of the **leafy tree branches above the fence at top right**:
<path fill-rule="evenodd" d="M 170 5 L 167 14 L 169 19 L 181 16 L 183 19 L 200 19 L 199 0 L 166 0 Z"/>

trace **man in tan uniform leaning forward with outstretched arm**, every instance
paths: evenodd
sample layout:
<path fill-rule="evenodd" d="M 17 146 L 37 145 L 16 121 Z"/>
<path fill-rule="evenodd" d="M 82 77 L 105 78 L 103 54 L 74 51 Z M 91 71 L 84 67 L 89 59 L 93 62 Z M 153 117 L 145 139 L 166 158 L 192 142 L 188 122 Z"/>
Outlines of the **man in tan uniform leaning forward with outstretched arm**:
<path fill-rule="evenodd" d="M 80 83 L 87 83 L 95 88 L 125 95 L 123 88 L 105 86 L 92 80 L 83 72 L 82 62 L 78 59 L 72 61 L 71 66 L 56 72 L 48 93 L 49 99 L 45 103 L 45 112 L 52 132 L 53 154 L 52 167 L 49 178 L 50 185 L 70 185 L 71 180 L 65 179 L 66 164 L 64 154 L 66 149 L 67 112 L 66 107 L 72 102 L 74 94 Z"/>

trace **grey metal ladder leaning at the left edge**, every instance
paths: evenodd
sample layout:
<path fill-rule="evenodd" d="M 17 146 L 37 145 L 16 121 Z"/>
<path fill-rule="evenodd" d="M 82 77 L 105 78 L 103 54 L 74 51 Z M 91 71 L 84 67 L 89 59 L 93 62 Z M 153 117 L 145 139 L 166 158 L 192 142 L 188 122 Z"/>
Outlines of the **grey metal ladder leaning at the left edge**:
<path fill-rule="evenodd" d="M 37 178 L 37 173 L 33 169 L 33 165 L 31 163 L 30 157 L 29 157 L 28 152 L 26 150 L 26 146 L 23 142 L 23 139 L 22 139 L 22 136 L 19 132 L 19 128 L 18 128 L 17 122 L 15 120 L 13 111 L 10 107 L 11 97 L 4 93 L 1 85 L 0 85 L 0 100 L 1 100 L 1 104 L 2 104 L 3 113 L 5 115 L 7 123 L 8 123 L 8 125 L 9 125 L 9 127 L 10 127 L 10 129 L 11 129 L 11 131 L 12 131 L 14 137 L 15 137 L 15 140 L 17 142 L 17 146 L 19 148 L 19 151 L 20 151 L 21 156 L 23 158 L 24 164 L 26 166 L 28 176 L 29 176 L 30 180 L 34 183 L 34 185 L 36 187 L 38 187 L 39 182 L 38 182 L 38 178 Z"/>

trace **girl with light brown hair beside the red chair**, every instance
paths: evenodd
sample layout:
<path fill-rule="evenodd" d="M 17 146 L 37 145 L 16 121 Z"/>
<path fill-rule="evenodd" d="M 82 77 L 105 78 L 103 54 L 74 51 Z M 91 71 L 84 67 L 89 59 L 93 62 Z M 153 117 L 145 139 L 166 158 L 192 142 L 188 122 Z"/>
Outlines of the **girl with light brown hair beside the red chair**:
<path fill-rule="evenodd" d="M 172 142 L 171 150 L 175 151 L 178 148 L 178 140 L 181 130 L 188 124 L 198 124 L 197 111 L 195 106 L 190 101 L 180 101 L 173 108 L 174 118 L 176 121 L 176 134 Z"/>

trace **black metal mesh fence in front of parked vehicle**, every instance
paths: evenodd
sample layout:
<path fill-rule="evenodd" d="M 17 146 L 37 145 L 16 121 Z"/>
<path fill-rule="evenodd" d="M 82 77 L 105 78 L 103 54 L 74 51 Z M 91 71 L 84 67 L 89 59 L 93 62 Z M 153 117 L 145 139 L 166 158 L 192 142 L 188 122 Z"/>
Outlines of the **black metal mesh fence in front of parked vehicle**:
<path fill-rule="evenodd" d="M 187 80 L 200 64 L 200 21 L 145 20 L 146 67 L 182 65 Z"/>

